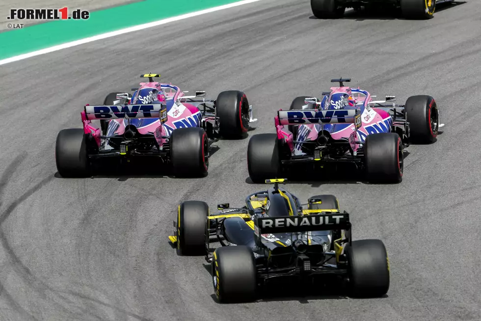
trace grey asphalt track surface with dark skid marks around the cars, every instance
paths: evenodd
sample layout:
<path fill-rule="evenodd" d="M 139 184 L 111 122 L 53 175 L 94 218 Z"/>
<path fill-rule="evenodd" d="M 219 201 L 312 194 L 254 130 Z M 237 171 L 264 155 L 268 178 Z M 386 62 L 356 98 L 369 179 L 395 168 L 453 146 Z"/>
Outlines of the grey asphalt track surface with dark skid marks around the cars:
<path fill-rule="evenodd" d="M 480 320 L 480 16 L 472 0 L 429 21 L 321 21 L 309 1 L 266 0 L 1 66 L 0 320 Z M 58 131 L 143 72 L 214 99 L 244 90 L 259 118 L 251 136 L 331 78 L 399 102 L 432 95 L 444 133 L 408 147 L 401 184 L 285 185 L 303 201 L 337 195 L 355 239 L 384 241 L 388 295 L 215 302 L 204 259 L 178 257 L 167 236 L 181 201 L 242 205 L 266 188 L 247 179 L 248 139 L 215 144 L 202 179 L 57 178 Z"/>

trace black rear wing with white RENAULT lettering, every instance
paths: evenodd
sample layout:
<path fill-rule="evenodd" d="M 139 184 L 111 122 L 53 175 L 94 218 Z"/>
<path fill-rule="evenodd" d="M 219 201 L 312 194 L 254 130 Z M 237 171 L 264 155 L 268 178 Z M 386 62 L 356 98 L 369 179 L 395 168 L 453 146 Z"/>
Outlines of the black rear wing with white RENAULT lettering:
<path fill-rule="evenodd" d="M 295 233 L 311 231 L 349 230 L 349 213 L 319 213 L 315 215 L 293 215 L 258 217 L 254 220 L 254 234 Z"/>

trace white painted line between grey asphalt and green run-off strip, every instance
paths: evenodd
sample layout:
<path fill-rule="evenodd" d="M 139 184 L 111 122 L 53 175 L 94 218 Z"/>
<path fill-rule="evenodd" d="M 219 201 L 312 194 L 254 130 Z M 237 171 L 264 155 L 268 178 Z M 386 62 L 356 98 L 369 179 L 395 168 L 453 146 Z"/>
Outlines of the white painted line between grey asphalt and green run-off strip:
<path fill-rule="evenodd" d="M 37 50 L 37 51 L 31 52 L 31 53 L 28 53 L 28 54 L 23 54 L 23 55 L 11 57 L 11 58 L 2 59 L 2 60 L 0 60 L 0 65 L 3 65 L 3 64 L 9 63 L 9 62 L 23 60 L 23 59 L 34 57 L 34 56 L 48 54 L 48 53 L 51 53 L 53 51 L 62 50 L 62 49 L 65 49 L 65 48 L 70 48 L 70 47 L 82 45 L 82 44 L 87 43 L 87 42 L 92 42 L 92 41 L 105 39 L 105 38 L 109 38 L 109 37 L 114 37 L 114 36 L 117 36 L 119 34 L 124 34 L 124 33 L 132 32 L 132 31 L 138 31 L 138 30 L 142 30 L 142 29 L 152 28 L 152 27 L 168 24 L 169 22 L 174 22 L 174 21 L 179 21 L 179 20 L 183 20 L 183 19 L 187 19 L 187 18 L 191 18 L 191 17 L 195 17 L 195 16 L 200 16 L 200 15 L 203 15 L 203 14 L 206 14 L 206 13 L 211 13 L 211 12 L 215 12 L 215 11 L 219 11 L 219 10 L 223 10 L 223 9 L 229 9 L 229 8 L 237 7 L 237 6 L 242 5 L 242 4 L 248 4 L 248 3 L 257 2 L 257 1 L 261 1 L 261 0 L 243 0 L 243 1 L 239 1 L 239 2 L 220 5 L 220 6 L 214 7 L 214 8 L 209 8 L 209 9 L 205 9 L 205 10 L 201 10 L 201 11 L 195 11 L 195 12 L 183 14 L 183 15 L 177 16 L 177 17 L 172 17 L 172 18 L 162 19 L 162 20 L 158 20 L 158 21 L 154 21 L 154 22 L 149 22 L 149 23 L 143 24 L 143 25 L 138 25 L 138 26 L 134 26 L 134 27 L 129 27 L 129 28 L 125 28 L 125 29 L 111 31 L 111 32 L 107 32 L 107 33 L 102 33 L 102 34 L 99 34 L 99 35 L 96 35 L 96 36 L 93 36 L 93 37 L 88 37 L 88 38 L 83 38 L 83 39 L 76 40 L 76 41 L 63 43 L 61 45 L 56 45 L 56 46 L 53 46 L 53 47 Z"/>

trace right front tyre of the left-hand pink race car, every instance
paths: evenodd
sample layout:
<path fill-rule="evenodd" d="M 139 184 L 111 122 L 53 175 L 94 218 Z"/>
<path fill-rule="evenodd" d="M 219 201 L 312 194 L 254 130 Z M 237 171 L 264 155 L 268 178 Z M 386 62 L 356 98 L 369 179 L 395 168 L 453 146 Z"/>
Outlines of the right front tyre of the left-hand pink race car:
<path fill-rule="evenodd" d="M 240 139 L 249 130 L 249 101 L 242 91 L 222 91 L 215 101 L 219 133 L 226 139 Z"/>

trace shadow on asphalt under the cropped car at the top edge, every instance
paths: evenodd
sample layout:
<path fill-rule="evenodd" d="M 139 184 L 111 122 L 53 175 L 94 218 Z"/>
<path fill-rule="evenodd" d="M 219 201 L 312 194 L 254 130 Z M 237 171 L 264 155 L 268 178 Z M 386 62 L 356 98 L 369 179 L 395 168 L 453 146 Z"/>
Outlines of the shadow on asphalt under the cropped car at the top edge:
<path fill-rule="evenodd" d="M 464 4 L 466 1 L 454 1 L 454 2 L 446 2 L 446 3 L 439 3 L 436 4 L 436 12 L 441 12 L 449 8 L 453 8 L 460 4 Z M 324 20 L 316 18 L 314 15 L 311 15 L 309 19 L 313 20 Z M 361 9 L 361 10 L 348 10 L 344 14 L 344 17 L 341 19 L 347 20 L 356 20 L 356 21 L 364 21 L 364 20 L 409 20 L 402 17 L 401 10 L 399 9 L 392 9 L 392 8 L 383 8 L 379 7 L 377 9 Z M 338 19 L 336 19 L 338 20 Z"/>

